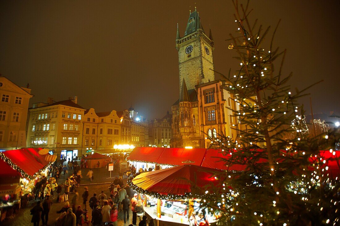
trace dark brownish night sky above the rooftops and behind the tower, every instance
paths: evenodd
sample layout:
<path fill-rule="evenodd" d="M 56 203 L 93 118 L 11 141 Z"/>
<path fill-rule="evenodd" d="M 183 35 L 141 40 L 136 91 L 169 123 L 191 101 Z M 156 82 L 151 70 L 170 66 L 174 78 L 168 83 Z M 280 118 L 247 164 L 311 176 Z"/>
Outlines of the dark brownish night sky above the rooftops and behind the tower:
<path fill-rule="evenodd" d="M 307 4 L 308 2 L 308 4 Z M 30 84 L 31 104 L 78 96 L 97 112 L 135 108 L 147 118 L 171 111 L 179 97 L 176 26 L 184 36 L 189 10 L 200 14 L 215 41 L 215 70 L 239 68 L 228 50 L 236 34 L 231 1 L 1 1 L 0 73 Z M 287 49 L 284 73 L 291 85 L 310 89 L 314 113 L 339 105 L 340 1 L 252 1 L 251 19 L 272 31 Z M 268 49 L 268 47 L 264 47 Z M 219 77 L 216 76 L 216 79 Z M 302 100 L 310 108 L 309 97 Z"/>

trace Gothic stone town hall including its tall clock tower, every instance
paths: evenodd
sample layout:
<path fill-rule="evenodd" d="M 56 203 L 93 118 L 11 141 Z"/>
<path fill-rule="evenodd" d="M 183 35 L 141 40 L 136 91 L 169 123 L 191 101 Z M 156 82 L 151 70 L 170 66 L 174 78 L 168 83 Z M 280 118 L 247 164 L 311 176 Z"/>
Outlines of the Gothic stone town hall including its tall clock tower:
<path fill-rule="evenodd" d="M 219 136 L 235 137 L 241 126 L 228 83 L 215 80 L 214 40 L 203 30 L 199 13 L 190 13 L 184 37 L 177 25 L 180 97 L 172 105 L 171 147 L 208 148 Z"/>

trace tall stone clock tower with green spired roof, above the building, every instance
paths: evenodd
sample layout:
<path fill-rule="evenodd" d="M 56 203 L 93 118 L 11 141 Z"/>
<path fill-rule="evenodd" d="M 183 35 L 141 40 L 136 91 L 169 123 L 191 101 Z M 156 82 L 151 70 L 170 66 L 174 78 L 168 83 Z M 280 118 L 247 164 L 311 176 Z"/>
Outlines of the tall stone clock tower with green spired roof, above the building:
<path fill-rule="evenodd" d="M 179 82 L 182 87 L 183 79 L 187 89 L 194 89 L 195 85 L 201 85 L 215 80 L 212 51 L 214 41 L 211 30 L 209 37 L 205 34 L 199 13 L 190 12 L 184 37 L 180 37 L 177 25 L 176 49 L 178 50 Z"/>

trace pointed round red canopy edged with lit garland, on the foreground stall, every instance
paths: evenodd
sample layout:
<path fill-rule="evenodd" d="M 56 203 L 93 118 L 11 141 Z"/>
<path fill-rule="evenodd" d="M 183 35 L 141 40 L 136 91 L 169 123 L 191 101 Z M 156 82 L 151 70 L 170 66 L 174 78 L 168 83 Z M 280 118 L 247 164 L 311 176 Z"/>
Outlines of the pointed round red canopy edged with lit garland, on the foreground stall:
<path fill-rule="evenodd" d="M 206 185 L 217 186 L 215 175 L 223 171 L 206 167 L 184 165 L 164 170 L 141 173 L 132 179 L 132 187 L 137 187 L 146 193 L 184 195 L 193 192 L 191 182 L 198 187 Z M 190 182 L 191 181 L 191 182 Z"/>

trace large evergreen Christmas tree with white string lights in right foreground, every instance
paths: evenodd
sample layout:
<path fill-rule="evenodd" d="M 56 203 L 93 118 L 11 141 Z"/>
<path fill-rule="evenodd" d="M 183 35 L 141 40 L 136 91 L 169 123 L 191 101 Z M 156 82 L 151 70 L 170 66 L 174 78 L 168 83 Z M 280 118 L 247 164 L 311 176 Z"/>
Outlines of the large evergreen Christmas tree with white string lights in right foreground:
<path fill-rule="evenodd" d="M 240 65 L 225 80 L 236 103 L 237 137 L 207 136 L 228 170 L 216 175 L 226 179 L 206 191 L 201 205 L 222 214 L 220 225 L 339 225 L 339 177 L 327 165 L 333 158 L 339 163 L 333 151 L 339 134 L 327 129 L 307 136 L 298 101 L 308 87 L 292 90 L 287 84 L 292 74 L 283 74 L 286 50 L 274 46 L 278 26 L 265 41 L 270 27 L 249 20 L 249 4 L 233 3 L 237 34 L 231 34 L 229 49 Z"/>

